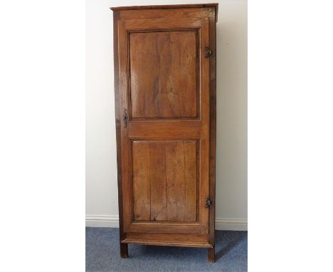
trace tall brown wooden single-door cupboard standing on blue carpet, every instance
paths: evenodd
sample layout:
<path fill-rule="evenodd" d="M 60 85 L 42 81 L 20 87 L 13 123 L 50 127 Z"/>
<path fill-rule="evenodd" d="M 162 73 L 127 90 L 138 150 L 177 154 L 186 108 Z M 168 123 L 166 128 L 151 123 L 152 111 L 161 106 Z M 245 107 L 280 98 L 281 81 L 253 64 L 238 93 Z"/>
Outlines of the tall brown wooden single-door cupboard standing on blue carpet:
<path fill-rule="evenodd" d="M 120 255 L 188 246 L 214 261 L 218 4 L 111 9 Z"/>

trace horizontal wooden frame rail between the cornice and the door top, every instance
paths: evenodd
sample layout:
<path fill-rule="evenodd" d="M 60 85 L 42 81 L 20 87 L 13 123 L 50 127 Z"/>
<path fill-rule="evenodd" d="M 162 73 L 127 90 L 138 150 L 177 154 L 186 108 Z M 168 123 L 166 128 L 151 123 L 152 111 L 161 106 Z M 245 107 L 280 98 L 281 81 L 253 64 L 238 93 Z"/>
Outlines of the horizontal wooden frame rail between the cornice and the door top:
<path fill-rule="evenodd" d="M 208 16 L 207 8 L 191 9 L 142 9 L 141 11 L 128 10 L 120 12 L 120 19 L 179 19 L 203 18 Z"/>

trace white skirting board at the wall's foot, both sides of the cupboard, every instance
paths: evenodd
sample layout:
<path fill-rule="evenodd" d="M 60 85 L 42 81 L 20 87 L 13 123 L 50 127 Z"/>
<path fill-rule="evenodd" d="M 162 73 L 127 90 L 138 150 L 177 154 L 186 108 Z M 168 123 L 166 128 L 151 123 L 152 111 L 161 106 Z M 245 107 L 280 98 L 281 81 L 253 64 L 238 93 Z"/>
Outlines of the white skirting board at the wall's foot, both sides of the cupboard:
<path fill-rule="evenodd" d="M 119 217 L 114 215 L 86 215 L 85 226 L 118 228 Z M 216 218 L 215 229 L 219 231 L 247 231 L 246 218 Z"/>

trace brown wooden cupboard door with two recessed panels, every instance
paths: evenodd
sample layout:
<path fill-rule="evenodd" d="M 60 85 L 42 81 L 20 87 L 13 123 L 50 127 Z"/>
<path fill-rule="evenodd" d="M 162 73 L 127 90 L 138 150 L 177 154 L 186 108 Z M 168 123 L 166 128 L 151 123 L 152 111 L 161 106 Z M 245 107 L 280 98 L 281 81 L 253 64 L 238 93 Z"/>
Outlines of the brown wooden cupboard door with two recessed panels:
<path fill-rule="evenodd" d="M 117 30 L 124 231 L 208 234 L 208 18 Z"/>

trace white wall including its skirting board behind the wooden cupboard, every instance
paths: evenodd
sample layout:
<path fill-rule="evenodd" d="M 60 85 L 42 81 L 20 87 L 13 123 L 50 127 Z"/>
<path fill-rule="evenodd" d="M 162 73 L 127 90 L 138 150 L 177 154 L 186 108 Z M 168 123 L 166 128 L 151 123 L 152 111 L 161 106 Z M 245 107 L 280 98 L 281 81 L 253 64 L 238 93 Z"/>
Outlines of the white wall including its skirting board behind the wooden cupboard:
<path fill-rule="evenodd" d="M 86 226 L 117 226 L 110 6 L 213 1 L 86 0 Z M 247 1 L 218 1 L 216 229 L 247 229 Z"/>

